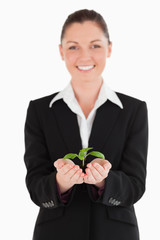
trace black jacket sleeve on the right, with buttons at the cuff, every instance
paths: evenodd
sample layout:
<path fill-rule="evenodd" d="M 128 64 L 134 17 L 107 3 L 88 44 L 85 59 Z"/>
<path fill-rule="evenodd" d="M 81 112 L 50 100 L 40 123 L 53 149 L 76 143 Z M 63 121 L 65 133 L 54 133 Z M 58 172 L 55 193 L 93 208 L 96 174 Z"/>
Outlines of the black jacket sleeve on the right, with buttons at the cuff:
<path fill-rule="evenodd" d="M 148 148 L 148 115 L 145 102 L 138 106 L 130 128 L 118 169 L 110 170 L 103 194 L 95 201 L 89 185 L 90 198 L 107 206 L 131 206 L 145 192 Z"/>

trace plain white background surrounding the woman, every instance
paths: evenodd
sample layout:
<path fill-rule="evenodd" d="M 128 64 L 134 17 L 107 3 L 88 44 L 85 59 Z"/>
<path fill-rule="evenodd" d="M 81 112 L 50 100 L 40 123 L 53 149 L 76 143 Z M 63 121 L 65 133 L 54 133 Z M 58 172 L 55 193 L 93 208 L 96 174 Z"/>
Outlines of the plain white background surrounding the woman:
<path fill-rule="evenodd" d="M 1 0 L 0 239 L 32 239 L 38 207 L 25 186 L 26 111 L 31 99 L 68 84 L 70 76 L 58 52 L 61 27 L 70 13 L 82 8 L 98 11 L 108 24 L 113 53 L 103 74 L 105 81 L 112 89 L 147 102 L 147 184 L 135 208 L 141 240 L 160 239 L 158 0 Z"/>

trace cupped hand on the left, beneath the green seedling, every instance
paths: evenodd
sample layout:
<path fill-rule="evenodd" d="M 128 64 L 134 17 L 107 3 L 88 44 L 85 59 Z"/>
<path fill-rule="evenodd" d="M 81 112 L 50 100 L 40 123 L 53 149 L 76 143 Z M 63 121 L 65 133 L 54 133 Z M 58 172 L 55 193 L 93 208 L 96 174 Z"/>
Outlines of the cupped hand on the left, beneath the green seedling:
<path fill-rule="evenodd" d="M 70 159 L 58 159 L 54 162 L 54 166 L 57 169 L 56 180 L 61 193 L 66 192 L 75 184 L 83 183 L 82 169 Z"/>

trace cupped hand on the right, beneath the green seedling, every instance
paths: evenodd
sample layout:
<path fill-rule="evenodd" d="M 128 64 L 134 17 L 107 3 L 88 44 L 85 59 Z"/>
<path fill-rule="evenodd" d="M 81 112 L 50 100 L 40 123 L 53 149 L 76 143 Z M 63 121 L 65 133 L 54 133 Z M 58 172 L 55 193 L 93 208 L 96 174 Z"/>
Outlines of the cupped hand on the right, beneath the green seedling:
<path fill-rule="evenodd" d="M 108 176 L 109 170 L 112 165 L 109 161 L 101 158 L 95 158 L 92 162 L 87 164 L 85 169 L 85 176 L 83 181 L 88 184 L 94 184 L 97 187 L 103 187 L 105 178 Z"/>

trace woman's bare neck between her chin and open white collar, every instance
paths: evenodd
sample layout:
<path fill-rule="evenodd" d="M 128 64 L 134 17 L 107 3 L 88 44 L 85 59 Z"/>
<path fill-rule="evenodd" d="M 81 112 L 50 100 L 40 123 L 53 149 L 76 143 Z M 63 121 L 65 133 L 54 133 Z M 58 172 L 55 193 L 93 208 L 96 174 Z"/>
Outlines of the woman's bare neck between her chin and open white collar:
<path fill-rule="evenodd" d="M 75 94 L 75 97 L 81 105 L 94 105 L 100 88 L 102 86 L 103 79 L 100 78 L 97 81 L 77 81 L 71 80 L 71 85 Z"/>

